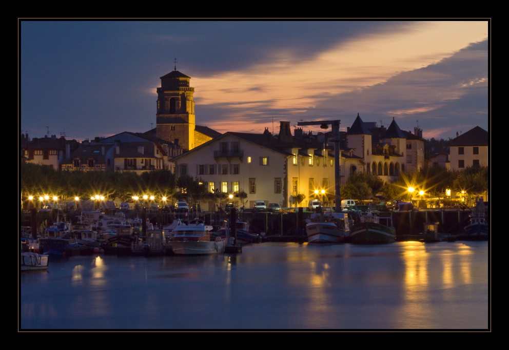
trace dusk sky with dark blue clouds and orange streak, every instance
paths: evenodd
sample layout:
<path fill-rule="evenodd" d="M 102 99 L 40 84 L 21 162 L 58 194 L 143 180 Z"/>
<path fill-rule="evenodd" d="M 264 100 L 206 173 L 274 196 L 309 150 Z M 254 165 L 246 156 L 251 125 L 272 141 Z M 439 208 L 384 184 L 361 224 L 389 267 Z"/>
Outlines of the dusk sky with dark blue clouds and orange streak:
<path fill-rule="evenodd" d="M 346 131 L 357 114 L 425 139 L 490 131 L 490 26 L 19 20 L 19 131 L 83 141 L 150 130 L 175 66 L 191 77 L 196 123 L 219 132 L 338 119 Z"/>

